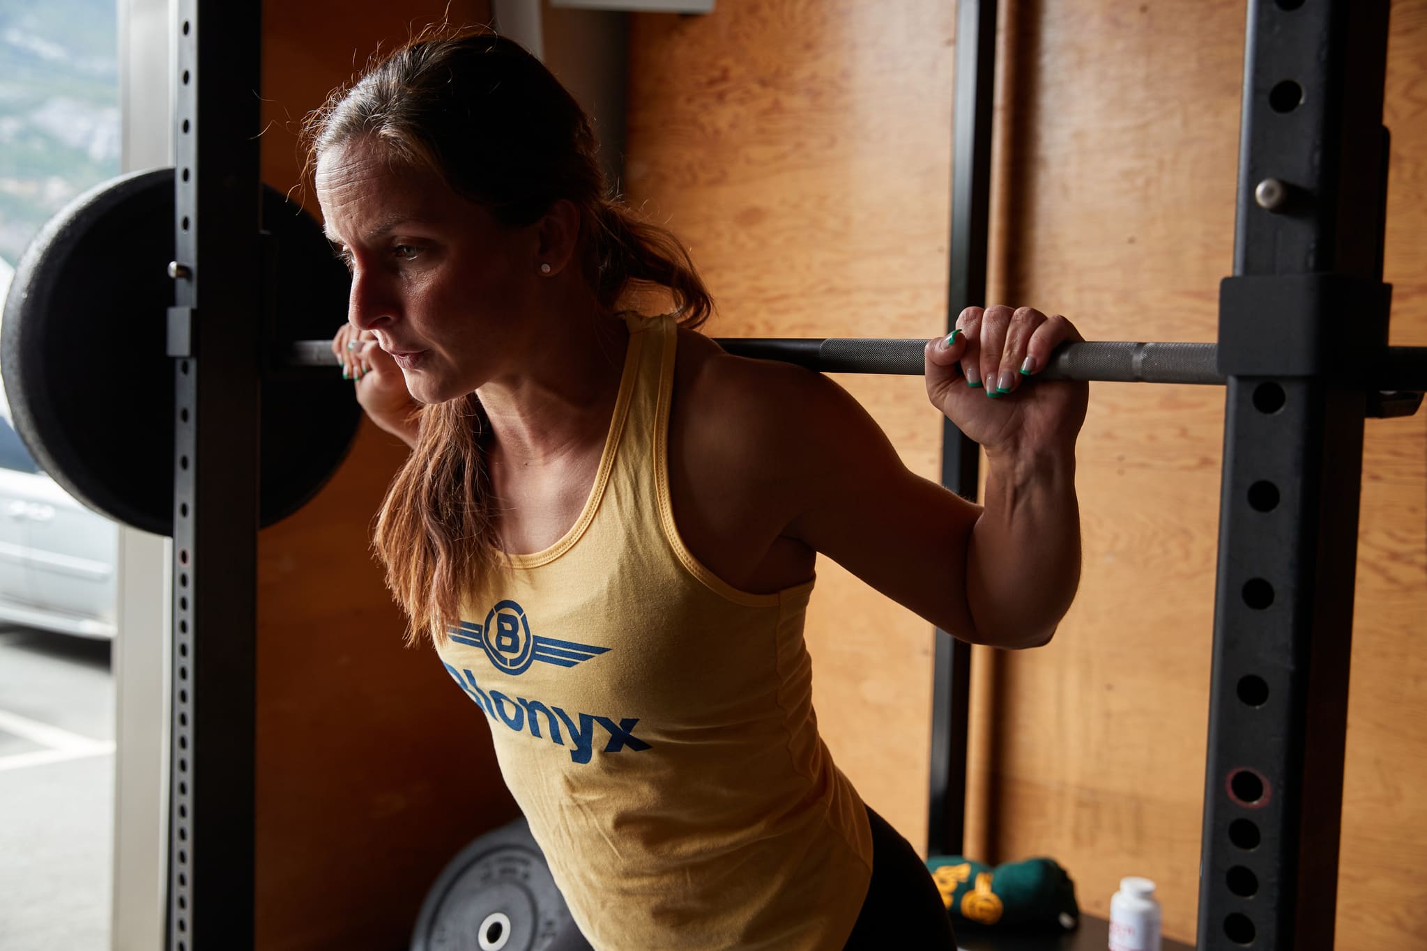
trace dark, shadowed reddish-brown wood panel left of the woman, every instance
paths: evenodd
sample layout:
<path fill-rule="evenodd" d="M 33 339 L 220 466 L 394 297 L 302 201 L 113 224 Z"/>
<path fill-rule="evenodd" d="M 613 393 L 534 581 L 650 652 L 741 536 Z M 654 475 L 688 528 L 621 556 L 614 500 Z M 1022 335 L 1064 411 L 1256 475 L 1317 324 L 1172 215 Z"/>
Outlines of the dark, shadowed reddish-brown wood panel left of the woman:
<path fill-rule="evenodd" d="M 297 185 L 301 117 L 378 44 L 445 10 L 264 4 L 264 180 Z M 478 23 L 488 10 L 452 3 L 450 16 Z M 310 191 L 294 195 L 315 211 Z M 338 302 L 332 329 L 344 319 Z M 258 538 L 260 948 L 405 947 L 441 867 L 517 813 L 484 717 L 430 647 L 401 646 L 404 620 L 371 556 L 372 516 L 404 456 L 364 425 L 323 492 Z"/>

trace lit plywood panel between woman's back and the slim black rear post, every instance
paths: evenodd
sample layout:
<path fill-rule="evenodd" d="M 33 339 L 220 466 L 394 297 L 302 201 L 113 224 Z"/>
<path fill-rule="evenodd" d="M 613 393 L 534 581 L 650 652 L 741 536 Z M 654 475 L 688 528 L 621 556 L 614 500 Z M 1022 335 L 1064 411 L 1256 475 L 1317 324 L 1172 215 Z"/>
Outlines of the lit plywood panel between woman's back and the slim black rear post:
<path fill-rule="evenodd" d="M 691 247 L 719 307 L 711 335 L 939 332 L 953 29 L 953 6 L 929 0 L 634 17 L 626 190 Z M 936 476 L 940 426 L 919 379 L 839 382 Z M 823 560 L 808 642 L 833 757 L 920 845 L 932 632 Z"/>

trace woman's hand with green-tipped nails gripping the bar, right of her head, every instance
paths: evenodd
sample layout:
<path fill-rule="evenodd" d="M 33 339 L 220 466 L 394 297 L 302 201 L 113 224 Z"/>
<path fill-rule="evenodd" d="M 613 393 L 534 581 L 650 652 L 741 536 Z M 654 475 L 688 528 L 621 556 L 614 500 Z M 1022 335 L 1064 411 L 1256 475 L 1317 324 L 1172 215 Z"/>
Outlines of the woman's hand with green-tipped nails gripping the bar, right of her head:
<path fill-rule="evenodd" d="M 950 336 L 926 345 L 926 395 L 987 455 L 1072 451 L 1090 388 L 1036 374 L 1056 346 L 1082 339 L 1060 315 L 969 307 Z"/>

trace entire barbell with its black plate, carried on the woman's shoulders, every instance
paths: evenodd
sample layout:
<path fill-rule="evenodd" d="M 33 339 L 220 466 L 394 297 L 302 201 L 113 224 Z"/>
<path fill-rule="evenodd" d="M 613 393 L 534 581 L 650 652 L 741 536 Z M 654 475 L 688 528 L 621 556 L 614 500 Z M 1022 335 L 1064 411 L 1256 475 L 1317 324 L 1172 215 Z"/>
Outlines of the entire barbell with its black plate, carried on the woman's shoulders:
<path fill-rule="evenodd" d="M 176 345 L 174 173 L 123 175 L 80 195 L 30 242 L 0 324 L 0 372 L 16 431 L 40 466 L 84 505 L 136 528 L 173 530 Z M 330 339 L 350 277 L 317 221 L 264 188 L 265 344 L 260 520 L 304 505 L 341 465 L 361 411 L 334 372 Z M 201 277 L 201 275 L 200 275 Z M 201 332 L 203 321 L 191 322 Z M 926 341 L 719 338 L 739 356 L 826 374 L 916 375 Z M 1043 379 L 1223 385 L 1214 344 L 1085 342 L 1056 349 Z M 1427 391 L 1427 346 L 1368 361 L 1368 412 L 1408 415 Z"/>

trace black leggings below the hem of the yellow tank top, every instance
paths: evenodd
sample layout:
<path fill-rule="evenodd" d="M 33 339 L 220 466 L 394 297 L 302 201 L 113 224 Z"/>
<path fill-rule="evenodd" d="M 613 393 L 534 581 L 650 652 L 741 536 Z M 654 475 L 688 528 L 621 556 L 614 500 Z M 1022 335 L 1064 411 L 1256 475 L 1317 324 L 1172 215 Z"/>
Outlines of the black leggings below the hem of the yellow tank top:
<path fill-rule="evenodd" d="M 872 824 L 872 884 L 843 951 L 882 951 L 889 947 L 956 951 L 952 920 L 942 904 L 942 893 L 926 871 L 926 863 L 912 843 L 872 807 L 868 807 L 868 821 Z M 571 924 L 545 951 L 592 948 L 579 928 Z"/>

